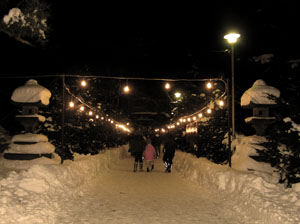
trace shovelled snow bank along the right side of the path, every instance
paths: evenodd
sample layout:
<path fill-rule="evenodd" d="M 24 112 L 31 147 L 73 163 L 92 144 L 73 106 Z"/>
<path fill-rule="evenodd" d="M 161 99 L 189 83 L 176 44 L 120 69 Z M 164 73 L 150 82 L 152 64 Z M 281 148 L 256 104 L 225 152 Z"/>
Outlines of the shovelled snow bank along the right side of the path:
<path fill-rule="evenodd" d="M 237 171 L 183 152 L 176 152 L 174 168 L 193 182 L 229 194 L 232 209 L 241 215 L 260 216 L 262 223 L 300 222 L 300 194 L 268 174 Z"/>

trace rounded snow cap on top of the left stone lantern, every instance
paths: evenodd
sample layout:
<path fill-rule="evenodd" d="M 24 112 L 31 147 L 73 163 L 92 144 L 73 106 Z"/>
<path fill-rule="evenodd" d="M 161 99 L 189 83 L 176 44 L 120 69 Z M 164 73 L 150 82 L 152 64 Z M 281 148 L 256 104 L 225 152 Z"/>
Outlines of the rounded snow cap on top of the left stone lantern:
<path fill-rule="evenodd" d="M 16 103 L 38 103 L 49 104 L 51 92 L 38 84 L 34 79 L 28 80 L 24 86 L 16 88 L 11 96 L 11 100 Z"/>

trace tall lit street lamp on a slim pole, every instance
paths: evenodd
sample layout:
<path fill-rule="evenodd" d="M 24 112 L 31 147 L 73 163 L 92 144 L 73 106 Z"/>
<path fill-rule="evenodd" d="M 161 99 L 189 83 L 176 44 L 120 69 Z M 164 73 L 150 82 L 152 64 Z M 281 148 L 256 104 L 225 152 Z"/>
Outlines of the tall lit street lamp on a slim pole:
<path fill-rule="evenodd" d="M 224 36 L 224 39 L 231 45 L 231 97 L 232 97 L 232 137 L 235 139 L 235 108 L 234 108 L 234 44 L 240 37 L 238 33 L 229 33 Z"/>

